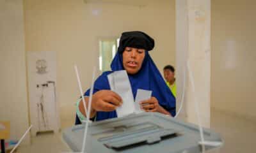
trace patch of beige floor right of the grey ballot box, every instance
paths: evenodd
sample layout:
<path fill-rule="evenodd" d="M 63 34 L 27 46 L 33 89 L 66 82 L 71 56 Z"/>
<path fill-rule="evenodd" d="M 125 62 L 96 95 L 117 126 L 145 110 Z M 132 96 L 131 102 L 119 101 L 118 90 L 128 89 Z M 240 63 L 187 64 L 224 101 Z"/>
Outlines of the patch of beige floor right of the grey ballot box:
<path fill-rule="evenodd" d="M 212 110 L 211 128 L 221 133 L 221 153 L 256 152 L 256 122 L 231 113 Z"/>

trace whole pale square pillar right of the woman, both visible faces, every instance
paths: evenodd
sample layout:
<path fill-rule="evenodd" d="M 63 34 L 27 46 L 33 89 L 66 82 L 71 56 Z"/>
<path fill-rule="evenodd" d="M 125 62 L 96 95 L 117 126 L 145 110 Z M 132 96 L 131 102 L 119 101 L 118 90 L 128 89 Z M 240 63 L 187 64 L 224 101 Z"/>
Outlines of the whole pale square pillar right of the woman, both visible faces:
<path fill-rule="evenodd" d="M 176 6 L 178 102 L 181 99 L 184 70 L 186 69 L 186 99 L 184 100 L 186 119 L 188 122 L 198 124 L 197 107 L 195 107 L 198 106 L 202 126 L 209 128 L 211 114 L 211 1 L 177 0 Z M 193 79 L 195 92 L 193 92 L 192 79 L 189 78 Z"/>

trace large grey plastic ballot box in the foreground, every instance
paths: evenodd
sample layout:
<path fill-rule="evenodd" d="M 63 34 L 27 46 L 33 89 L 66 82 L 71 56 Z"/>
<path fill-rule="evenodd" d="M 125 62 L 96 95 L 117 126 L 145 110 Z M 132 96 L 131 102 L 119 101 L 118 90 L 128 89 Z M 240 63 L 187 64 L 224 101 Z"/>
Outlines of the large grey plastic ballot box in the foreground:
<path fill-rule="evenodd" d="M 86 123 L 63 131 L 63 140 L 74 152 L 81 152 Z M 221 142 L 218 133 L 204 129 L 205 141 Z M 161 113 L 139 113 L 92 122 L 88 125 L 85 152 L 200 152 L 198 126 Z M 205 146 L 205 150 L 215 147 Z"/>

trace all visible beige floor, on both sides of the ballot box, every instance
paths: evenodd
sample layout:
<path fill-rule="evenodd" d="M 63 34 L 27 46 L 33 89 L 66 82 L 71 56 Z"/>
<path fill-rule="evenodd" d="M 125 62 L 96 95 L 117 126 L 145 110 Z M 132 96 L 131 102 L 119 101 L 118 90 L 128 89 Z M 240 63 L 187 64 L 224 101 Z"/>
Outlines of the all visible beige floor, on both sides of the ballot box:
<path fill-rule="evenodd" d="M 66 128 L 73 124 L 74 120 L 61 120 L 61 127 Z M 221 133 L 225 145 L 216 153 L 242 153 L 256 152 L 256 123 L 250 120 L 236 117 L 235 115 L 212 110 L 211 127 Z M 20 153 L 45 153 L 45 152 L 70 152 L 67 145 L 62 142 L 61 133 L 44 133 L 31 139 L 31 145 L 20 146 Z"/>

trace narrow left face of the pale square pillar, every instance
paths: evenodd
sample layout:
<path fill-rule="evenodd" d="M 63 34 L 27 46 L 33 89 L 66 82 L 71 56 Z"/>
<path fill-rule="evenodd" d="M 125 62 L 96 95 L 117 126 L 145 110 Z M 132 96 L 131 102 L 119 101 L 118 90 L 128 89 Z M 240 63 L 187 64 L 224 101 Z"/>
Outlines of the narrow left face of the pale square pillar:
<path fill-rule="evenodd" d="M 188 71 L 186 70 L 186 62 L 188 61 L 188 4 L 186 0 L 176 0 L 175 3 L 175 42 L 176 42 L 176 85 L 177 85 L 177 97 L 176 97 L 176 111 L 178 113 L 180 106 L 182 105 L 182 94 L 188 86 Z M 187 82 L 187 83 L 186 83 Z M 184 96 L 183 101 L 188 101 L 188 98 Z M 188 116 L 186 112 L 186 103 L 183 103 L 182 110 L 178 117 L 179 119 L 186 120 Z"/>

